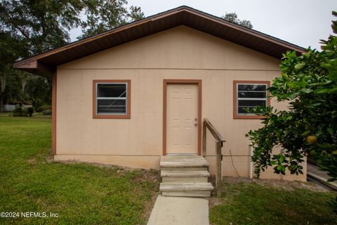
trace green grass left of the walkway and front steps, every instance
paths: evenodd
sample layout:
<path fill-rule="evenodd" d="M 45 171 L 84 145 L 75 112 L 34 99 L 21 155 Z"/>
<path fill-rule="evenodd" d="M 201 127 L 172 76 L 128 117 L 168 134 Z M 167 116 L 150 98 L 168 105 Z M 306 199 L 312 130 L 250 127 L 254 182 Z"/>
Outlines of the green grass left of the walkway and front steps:
<path fill-rule="evenodd" d="M 0 224 L 145 224 L 157 172 L 53 162 L 51 120 L 0 116 Z"/>

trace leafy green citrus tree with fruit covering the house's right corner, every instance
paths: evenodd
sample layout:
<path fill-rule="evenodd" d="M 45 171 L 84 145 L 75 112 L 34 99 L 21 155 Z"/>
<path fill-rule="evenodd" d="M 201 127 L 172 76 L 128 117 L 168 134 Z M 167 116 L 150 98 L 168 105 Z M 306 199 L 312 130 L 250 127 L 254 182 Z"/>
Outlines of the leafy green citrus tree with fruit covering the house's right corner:
<path fill-rule="evenodd" d="M 336 34 L 337 21 L 332 28 Z M 265 116 L 264 127 L 246 135 L 258 176 L 268 166 L 277 174 L 286 169 L 302 174 L 300 162 L 310 155 L 331 176 L 329 181 L 337 180 L 337 37 L 331 35 L 322 44 L 322 51 L 308 49 L 301 56 L 287 52 L 282 58 L 282 76 L 268 90 L 278 101 L 291 101 L 290 110 L 253 110 Z M 272 155 L 275 146 L 282 146 L 284 153 Z"/>

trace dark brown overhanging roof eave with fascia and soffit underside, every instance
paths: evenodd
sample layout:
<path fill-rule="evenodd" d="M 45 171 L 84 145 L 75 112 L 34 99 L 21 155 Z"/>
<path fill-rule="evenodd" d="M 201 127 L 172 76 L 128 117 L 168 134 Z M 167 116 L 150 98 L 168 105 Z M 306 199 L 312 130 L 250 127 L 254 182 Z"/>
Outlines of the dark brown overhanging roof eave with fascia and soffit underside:
<path fill-rule="evenodd" d="M 155 23 L 154 21 L 156 21 L 156 20 L 159 21 L 162 18 L 167 18 L 171 15 L 172 16 L 182 15 L 182 14 L 178 14 L 178 13 L 184 13 L 183 15 L 198 16 L 199 18 L 202 18 L 204 20 L 212 21 L 212 23 L 216 23 L 218 25 L 225 26 L 228 29 L 236 30 L 237 32 L 240 32 L 240 33 L 246 35 L 247 37 L 248 36 L 254 37 L 255 39 L 263 40 L 263 41 L 265 41 L 265 43 L 269 43 L 269 45 L 276 46 L 277 49 L 274 51 L 274 53 L 270 53 L 270 52 L 267 53 L 267 51 L 265 51 L 266 54 L 269 54 L 270 56 L 275 57 L 275 58 L 282 58 L 282 53 L 285 53 L 285 51 L 289 51 L 289 50 L 290 51 L 297 51 L 298 54 L 305 52 L 305 49 L 303 49 L 302 47 L 296 46 L 295 44 L 291 44 L 287 41 L 283 41 L 281 39 L 277 39 L 276 37 L 272 37 L 270 35 L 263 34 L 262 32 L 258 32 L 256 30 L 252 30 L 252 29 L 243 27 L 241 25 L 237 25 L 237 24 L 228 22 L 228 21 L 223 20 L 221 18 L 218 18 L 214 15 L 210 15 L 208 13 L 198 11 L 194 8 L 190 8 L 190 7 L 187 7 L 187 6 L 180 6 L 178 8 L 173 8 L 169 11 L 165 11 L 163 13 L 158 13 L 156 15 L 149 16 L 147 18 L 135 21 L 133 23 L 128 23 L 126 25 L 122 25 L 121 27 L 117 27 L 117 28 L 114 28 L 112 30 L 108 30 L 108 31 L 103 32 L 101 34 L 95 34 L 91 37 L 87 37 L 87 38 L 81 39 L 79 41 L 74 41 L 74 42 L 72 42 L 70 44 L 67 44 L 65 46 L 61 46 L 57 49 L 53 49 L 51 51 L 46 51 L 46 52 L 41 53 L 39 55 L 20 60 L 20 61 L 14 63 L 14 68 L 18 68 L 20 70 L 25 70 L 27 72 L 33 72 L 33 73 L 39 74 L 41 76 L 51 78 L 52 72 L 53 72 L 53 70 L 55 70 L 57 65 L 61 65 L 64 62 L 62 63 L 60 61 L 60 62 L 56 62 L 56 63 L 50 63 L 50 62 L 48 62 L 48 58 L 52 58 L 52 57 L 60 56 L 60 55 L 61 56 L 62 55 L 67 56 L 67 53 L 71 53 L 70 51 L 74 52 L 74 51 L 77 50 L 77 48 L 79 48 L 81 46 L 86 46 L 86 44 L 93 44 L 95 41 L 100 41 L 101 39 L 105 39 L 105 37 L 110 38 L 111 37 L 110 35 L 118 35 L 120 33 L 125 32 L 126 30 L 133 29 L 135 27 L 138 29 L 138 27 L 140 27 L 140 26 L 147 25 L 147 23 Z M 188 14 L 185 14 L 185 13 L 188 13 Z M 180 23 L 181 23 L 181 25 L 190 26 L 188 24 L 185 24 L 187 22 L 180 22 Z M 194 29 L 201 30 L 203 32 L 208 32 L 207 30 L 204 30 L 200 27 L 199 28 L 197 27 L 197 28 L 194 28 Z M 150 33 L 150 34 L 152 34 L 152 33 Z M 147 35 L 150 35 L 150 34 L 147 34 Z M 213 33 L 210 33 L 210 34 L 215 35 Z M 140 38 L 140 37 L 133 37 L 133 39 L 138 39 L 138 38 Z M 221 37 L 221 38 L 225 38 L 225 37 Z M 124 44 L 128 41 L 132 41 L 133 39 L 124 40 L 124 42 L 121 42 L 121 44 Z M 231 41 L 231 40 L 229 39 L 229 41 Z M 234 41 L 234 42 L 236 42 L 236 41 Z M 239 42 L 237 44 L 245 45 L 244 43 L 239 43 Z M 116 43 L 116 45 L 119 45 L 119 44 Z M 246 47 L 250 47 L 251 49 L 259 51 L 259 49 L 256 49 L 256 46 L 246 46 Z M 103 51 L 103 50 L 96 49 L 95 51 L 97 52 L 97 51 Z M 94 50 L 91 50 L 91 51 L 92 52 L 91 53 L 89 52 L 89 54 L 87 54 L 87 55 L 95 53 Z M 86 55 L 80 56 L 78 58 L 82 58 L 84 56 L 86 56 Z M 58 58 L 58 57 L 56 57 L 56 58 Z M 77 58 L 73 58 L 72 60 L 76 60 L 76 59 Z M 67 63 L 67 62 L 70 62 L 71 59 L 64 60 L 64 61 L 65 61 L 65 63 Z M 44 62 L 45 62 L 45 64 L 44 64 Z"/>

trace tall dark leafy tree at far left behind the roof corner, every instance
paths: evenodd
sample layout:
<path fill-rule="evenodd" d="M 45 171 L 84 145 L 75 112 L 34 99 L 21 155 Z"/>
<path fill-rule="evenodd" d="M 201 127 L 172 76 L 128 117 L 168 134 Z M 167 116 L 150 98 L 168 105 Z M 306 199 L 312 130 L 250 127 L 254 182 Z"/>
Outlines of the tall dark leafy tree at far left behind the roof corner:
<path fill-rule="evenodd" d="M 3 77 L 1 80 L 5 81 L 2 83 L 6 83 L 6 79 L 10 76 L 21 77 L 17 82 L 22 85 L 23 90 L 17 93 L 17 99 L 25 100 L 24 85 L 25 80 L 27 81 L 29 77 L 25 75 L 25 72 L 10 69 L 15 60 L 67 44 L 70 41 L 67 30 L 79 25 L 79 15 L 82 8 L 81 2 L 71 0 L 0 2 L 0 32 L 11 37 L 1 39 L 1 45 L 3 44 L 6 50 L 1 58 L 8 59 L 0 62 L 1 77 Z M 0 108 L 3 108 L 4 92 L 1 96 Z"/>

